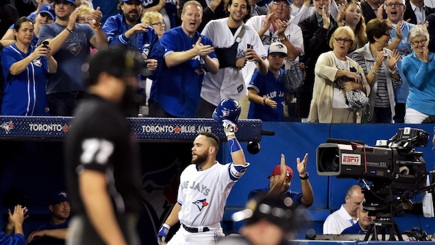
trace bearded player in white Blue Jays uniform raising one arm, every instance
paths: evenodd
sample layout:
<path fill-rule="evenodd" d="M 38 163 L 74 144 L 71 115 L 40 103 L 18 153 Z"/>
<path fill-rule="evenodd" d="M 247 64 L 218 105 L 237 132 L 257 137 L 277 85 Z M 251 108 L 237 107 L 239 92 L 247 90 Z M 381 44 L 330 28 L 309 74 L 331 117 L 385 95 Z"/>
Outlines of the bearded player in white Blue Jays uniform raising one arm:
<path fill-rule="evenodd" d="M 159 244 L 166 242 L 169 229 L 177 222 L 181 226 L 169 245 L 214 245 L 225 236 L 220 223 L 223 209 L 249 163 L 234 135 L 236 125 L 223 120 L 223 127 L 233 162 L 223 165 L 216 161 L 219 138 L 212 132 L 199 133 L 193 141 L 192 164 L 180 176 L 177 203 L 158 233 Z"/>

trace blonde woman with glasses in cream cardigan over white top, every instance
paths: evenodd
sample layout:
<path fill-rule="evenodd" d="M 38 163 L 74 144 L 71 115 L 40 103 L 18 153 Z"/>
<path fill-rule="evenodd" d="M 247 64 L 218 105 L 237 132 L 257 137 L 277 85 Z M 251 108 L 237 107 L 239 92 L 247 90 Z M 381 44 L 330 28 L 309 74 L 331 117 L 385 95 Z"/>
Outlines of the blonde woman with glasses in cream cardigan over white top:
<path fill-rule="evenodd" d="M 347 93 L 369 95 L 370 86 L 357 62 L 347 57 L 356 46 L 351 27 L 338 27 L 330 39 L 332 51 L 319 56 L 314 67 L 314 88 L 308 121 L 324 124 L 360 123 L 361 109 L 352 109 Z"/>

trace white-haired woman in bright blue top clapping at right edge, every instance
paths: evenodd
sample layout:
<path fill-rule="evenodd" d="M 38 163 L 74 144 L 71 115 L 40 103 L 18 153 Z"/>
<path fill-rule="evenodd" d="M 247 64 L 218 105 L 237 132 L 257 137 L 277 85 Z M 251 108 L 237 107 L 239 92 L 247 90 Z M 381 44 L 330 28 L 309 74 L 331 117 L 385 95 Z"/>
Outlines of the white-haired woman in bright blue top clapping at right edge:
<path fill-rule="evenodd" d="M 434 53 L 430 53 L 427 47 L 429 33 L 424 25 L 412 27 L 408 39 L 412 54 L 405 56 L 401 65 L 410 85 L 405 123 L 421 124 L 427 117 L 435 115 Z"/>

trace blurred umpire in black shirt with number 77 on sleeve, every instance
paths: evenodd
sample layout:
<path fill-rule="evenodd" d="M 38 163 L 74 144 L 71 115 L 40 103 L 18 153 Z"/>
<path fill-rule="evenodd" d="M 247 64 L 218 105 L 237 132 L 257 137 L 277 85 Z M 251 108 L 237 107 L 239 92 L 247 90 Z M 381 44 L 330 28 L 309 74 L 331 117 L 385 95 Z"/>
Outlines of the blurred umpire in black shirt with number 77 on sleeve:
<path fill-rule="evenodd" d="M 84 65 L 88 100 L 65 140 L 66 182 L 76 215 L 66 244 L 140 244 L 140 165 L 125 109 L 137 89 L 135 51 L 103 49 Z"/>

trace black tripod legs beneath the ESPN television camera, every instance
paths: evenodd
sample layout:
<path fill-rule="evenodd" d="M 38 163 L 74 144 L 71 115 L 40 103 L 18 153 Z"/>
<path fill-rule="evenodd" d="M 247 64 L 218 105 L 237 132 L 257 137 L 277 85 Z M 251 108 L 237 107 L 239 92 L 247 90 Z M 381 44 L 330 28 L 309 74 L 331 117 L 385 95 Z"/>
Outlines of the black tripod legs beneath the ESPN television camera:
<path fill-rule="evenodd" d="M 390 235 L 388 241 L 396 241 L 395 235 L 397 235 L 397 238 L 399 241 L 403 241 L 403 237 L 401 235 L 401 232 L 399 230 L 399 226 L 397 225 L 397 222 L 393 220 L 393 218 L 386 218 L 386 217 L 376 217 L 376 220 L 372 221 L 369 224 L 369 228 L 367 229 L 366 236 L 364 237 L 364 241 L 368 241 L 371 234 L 371 240 L 375 241 L 385 241 L 386 237 L 386 231 L 388 229 L 388 233 Z M 379 240 L 379 237 L 377 235 L 381 234 L 382 239 Z"/>

